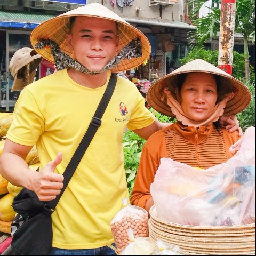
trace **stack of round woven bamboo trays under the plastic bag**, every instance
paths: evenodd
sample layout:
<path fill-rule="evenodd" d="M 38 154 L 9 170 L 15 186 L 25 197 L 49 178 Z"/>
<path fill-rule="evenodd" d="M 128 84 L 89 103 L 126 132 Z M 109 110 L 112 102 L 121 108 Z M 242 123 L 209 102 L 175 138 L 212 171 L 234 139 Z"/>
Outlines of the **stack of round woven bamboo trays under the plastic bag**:
<path fill-rule="evenodd" d="M 255 223 L 237 226 L 188 226 L 157 218 L 150 209 L 149 237 L 175 244 L 190 255 L 255 255 Z"/>

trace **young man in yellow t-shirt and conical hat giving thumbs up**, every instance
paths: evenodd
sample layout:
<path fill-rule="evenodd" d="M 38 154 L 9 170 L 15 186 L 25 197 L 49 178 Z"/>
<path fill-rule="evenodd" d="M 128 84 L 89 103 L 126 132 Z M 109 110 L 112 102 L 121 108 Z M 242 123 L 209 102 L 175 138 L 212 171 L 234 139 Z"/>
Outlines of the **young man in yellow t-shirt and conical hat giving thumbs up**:
<path fill-rule="evenodd" d="M 33 30 L 31 44 L 59 71 L 21 92 L 0 168 L 13 185 L 49 201 L 60 193 L 62 174 L 91 122 L 111 72 L 141 65 L 149 58 L 151 47 L 138 29 L 98 3 L 43 22 Z M 114 242 L 110 221 L 121 210 L 122 199 L 129 197 L 123 132 L 127 127 L 148 139 L 170 125 L 158 122 L 144 103 L 131 81 L 117 78 L 102 124 L 52 214 L 52 255 L 115 255 L 107 246 Z M 235 124 L 233 129 L 237 128 Z M 25 162 L 35 144 L 39 172 L 30 171 Z"/>

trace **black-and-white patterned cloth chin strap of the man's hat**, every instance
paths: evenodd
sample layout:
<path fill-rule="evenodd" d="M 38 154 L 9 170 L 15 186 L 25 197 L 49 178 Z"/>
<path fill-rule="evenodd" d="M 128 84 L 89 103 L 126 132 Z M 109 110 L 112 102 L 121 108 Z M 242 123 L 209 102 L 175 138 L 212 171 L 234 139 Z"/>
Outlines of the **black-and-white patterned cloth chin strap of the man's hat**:
<path fill-rule="evenodd" d="M 142 42 L 139 37 L 132 39 L 124 48 L 115 56 L 113 60 L 107 63 L 107 65 L 99 71 L 91 71 L 81 65 L 79 62 L 71 58 L 68 54 L 61 51 L 60 46 L 50 40 L 42 39 L 37 44 L 35 44 L 36 49 L 50 48 L 50 53 L 54 59 L 55 67 L 57 70 L 65 69 L 68 67 L 74 68 L 82 73 L 87 73 L 91 75 L 96 75 L 107 70 L 116 67 L 123 59 L 139 58 L 142 56 Z"/>

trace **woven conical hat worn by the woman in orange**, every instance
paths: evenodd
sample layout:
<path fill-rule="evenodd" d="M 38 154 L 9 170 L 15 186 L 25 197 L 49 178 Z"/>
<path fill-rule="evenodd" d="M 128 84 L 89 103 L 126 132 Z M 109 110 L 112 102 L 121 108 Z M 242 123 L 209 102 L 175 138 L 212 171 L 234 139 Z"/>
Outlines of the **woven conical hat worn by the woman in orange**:
<path fill-rule="evenodd" d="M 167 97 L 163 89 L 168 87 L 172 93 L 172 96 L 176 99 L 175 88 L 177 87 L 177 75 L 191 72 L 203 72 L 219 75 L 219 100 L 223 99 L 229 92 L 235 93 L 235 97 L 227 102 L 223 115 L 236 115 L 249 106 L 251 102 L 251 93 L 247 86 L 220 68 L 199 59 L 186 63 L 180 68 L 172 71 L 172 73 L 154 82 L 147 92 L 147 100 L 149 105 L 165 116 L 175 117 L 175 115 L 172 113 L 171 107 L 167 104 Z"/>

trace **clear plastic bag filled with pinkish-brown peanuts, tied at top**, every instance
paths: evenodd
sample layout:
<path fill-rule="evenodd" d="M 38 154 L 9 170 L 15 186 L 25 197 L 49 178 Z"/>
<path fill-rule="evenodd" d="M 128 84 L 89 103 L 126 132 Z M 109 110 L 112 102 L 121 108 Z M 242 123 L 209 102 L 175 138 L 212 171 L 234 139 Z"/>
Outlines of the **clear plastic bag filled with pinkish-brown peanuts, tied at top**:
<path fill-rule="evenodd" d="M 127 198 L 123 199 L 123 209 L 118 211 L 110 222 L 117 253 L 121 253 L 130 243 L 127 230 L 133 230 L 134 237 L 148 237 L 148 213 L 136 205 L 127 205 Z"/>

